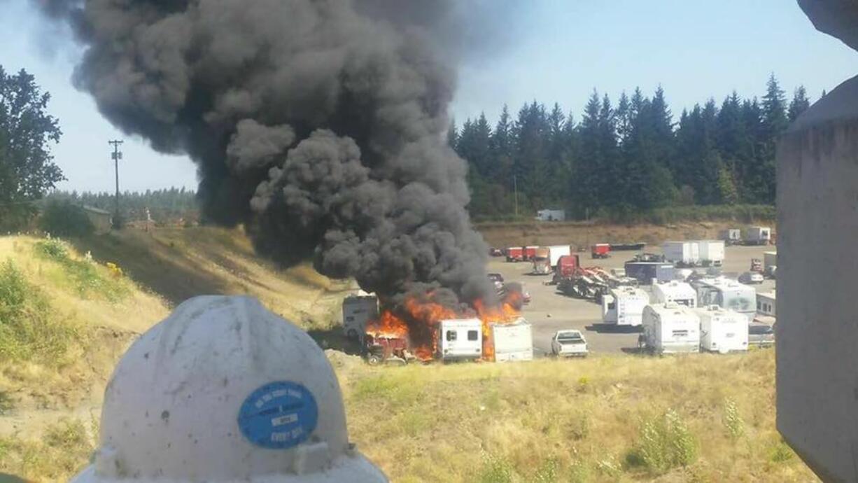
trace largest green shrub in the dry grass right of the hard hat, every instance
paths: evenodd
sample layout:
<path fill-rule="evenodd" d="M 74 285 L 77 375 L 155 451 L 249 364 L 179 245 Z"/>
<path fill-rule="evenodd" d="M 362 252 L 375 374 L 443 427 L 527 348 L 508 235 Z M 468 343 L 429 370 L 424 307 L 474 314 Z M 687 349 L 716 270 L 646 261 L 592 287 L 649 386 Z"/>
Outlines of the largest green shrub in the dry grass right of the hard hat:
<path fill-rule="evenodd" d="M 643 466 L 652 474 L 686 467 L 697 459 L 697 442 L 673 409 L 644 420 L 637 446 L 626 455 L 629 466 Z"/>

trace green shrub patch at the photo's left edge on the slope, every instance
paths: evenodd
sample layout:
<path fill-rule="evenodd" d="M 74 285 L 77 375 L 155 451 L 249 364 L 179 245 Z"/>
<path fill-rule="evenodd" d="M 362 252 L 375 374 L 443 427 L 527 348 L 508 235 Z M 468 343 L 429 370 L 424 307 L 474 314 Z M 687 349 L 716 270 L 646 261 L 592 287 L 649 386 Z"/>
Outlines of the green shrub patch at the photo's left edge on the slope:
<path fill-rule="evenodd" d="M 0 360 L 59 365 L 77 336 L 74 325 L 56 317 L 15 264 L 0 265 Z"/>

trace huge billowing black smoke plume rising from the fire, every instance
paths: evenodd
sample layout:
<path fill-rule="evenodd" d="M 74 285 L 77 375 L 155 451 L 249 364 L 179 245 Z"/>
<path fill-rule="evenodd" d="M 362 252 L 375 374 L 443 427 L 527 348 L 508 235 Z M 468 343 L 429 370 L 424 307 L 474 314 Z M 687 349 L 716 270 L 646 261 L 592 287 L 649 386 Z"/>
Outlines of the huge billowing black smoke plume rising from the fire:
<path fill-rule="evenodd" d="M 78 88 L 189 154 L 209 220 L 396 299 L 490 298 L 444 142 L 452 0 L 39 0 L 87 46 Z"/>

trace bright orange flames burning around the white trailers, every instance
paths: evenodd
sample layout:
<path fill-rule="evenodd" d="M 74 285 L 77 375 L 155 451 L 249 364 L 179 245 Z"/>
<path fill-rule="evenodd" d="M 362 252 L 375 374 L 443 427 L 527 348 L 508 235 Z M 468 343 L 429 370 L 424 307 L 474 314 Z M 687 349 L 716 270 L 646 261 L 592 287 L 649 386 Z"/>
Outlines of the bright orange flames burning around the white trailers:
<path fill-rule="evenodd" d="M 408 296 L 398 308 L 398 314 L 390 309 L 382 311 L 377 321 L 369 323 L 366 334 L 374 337 L 396 337 L 408 339 L 411 351 L 418 359 L 432 360 L 438 350 L 436 330 L 438 323 L 451 318 L 476 317 L 482 321 L 483 359 L 494 360 L 492 324 L 514 323 L 521 316 L 523 294 L 509 291 L 498 305 L 486 306 L 478 299 L 473 310 L 455 311 L 432 301 L 432 293 L 425 297 Z"/>

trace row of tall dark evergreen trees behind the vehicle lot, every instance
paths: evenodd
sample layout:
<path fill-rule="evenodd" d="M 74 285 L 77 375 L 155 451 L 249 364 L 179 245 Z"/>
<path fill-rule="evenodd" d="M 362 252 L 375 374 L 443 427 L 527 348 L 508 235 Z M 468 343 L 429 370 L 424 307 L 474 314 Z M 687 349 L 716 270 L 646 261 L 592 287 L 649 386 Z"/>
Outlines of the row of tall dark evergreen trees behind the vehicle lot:
<path fill-rule="evenodd" d="M 577 219 L 771 205 L 776 141 L 809 106 L 803 87 L 788 102 L 775 75 L 761 99 L 710 98 L 678 121 L 662 88 L 650 97 L 640 88 L 624 92 L 616 104 L 594 89 L 580 121 L 557 103 L 533 101 L 516 118 L 504 106 L 493 127 L 484 114 L 453 123 L 448 142 L 468 162 L 468 208 L 477 220 L 509 217 L 516 204 L 520 214 L 565 208 Z"/>

